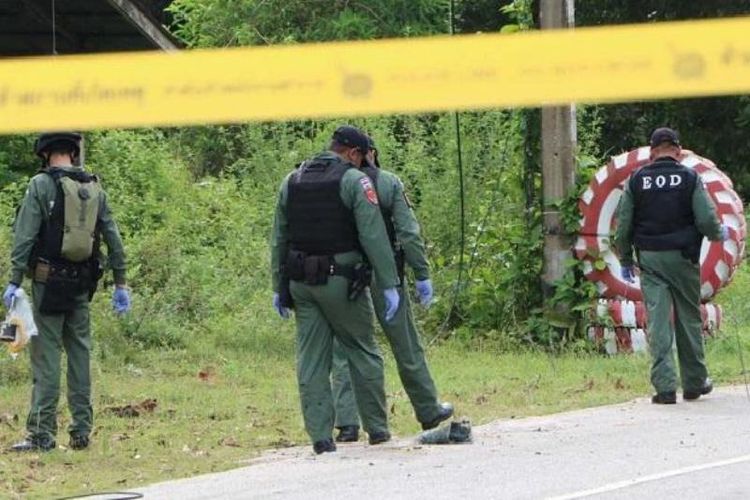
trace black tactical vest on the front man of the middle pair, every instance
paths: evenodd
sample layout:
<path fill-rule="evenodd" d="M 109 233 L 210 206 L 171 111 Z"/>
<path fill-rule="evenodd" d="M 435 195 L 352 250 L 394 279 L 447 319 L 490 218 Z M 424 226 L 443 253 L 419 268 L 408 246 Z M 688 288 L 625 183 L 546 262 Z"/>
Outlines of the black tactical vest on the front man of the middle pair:
<path fill-rule="evenodd" d="M 289 178 L 290 248 L 310 255 L 359 249 L 354 214 L 341 200 L 341 179 L 353 165 L 333 158 L 303 163 Z"/>

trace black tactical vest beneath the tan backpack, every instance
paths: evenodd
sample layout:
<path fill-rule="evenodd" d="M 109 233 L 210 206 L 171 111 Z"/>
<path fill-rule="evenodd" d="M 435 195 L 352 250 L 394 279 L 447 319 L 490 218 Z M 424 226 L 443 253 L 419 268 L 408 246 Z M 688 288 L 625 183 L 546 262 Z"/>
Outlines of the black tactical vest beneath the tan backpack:
<path fill-rule="evenodd" d="M 38 259 L 44 259 L 48 262 L 64 263 L 66 259 L 62 257 L 61 251 L 63 246 L 63 236 L 65 231 L 65 195 L 60 183 L 60 178 L 69 177 L 77 182 L 89 183 L 96 182 L 96 176 L 83 171 L 69 171 L 60 168 L 50 168 L 40 171 L 52 177 L 55 181 L 56 196 L 55 204 L 52 207 L 49 219 L 42 222 L 39 229 L 39 239 L 34 244 L 31 252 L 29 267 L 33 269 Z M 98 221 L 98 216 L 97 216 Z M 100 257 L 100 231 L 97 222 L 94 231 L 94 244 L 91 257 L 80 265 L 89 265 L 92 262 L 98 262 Z"/>

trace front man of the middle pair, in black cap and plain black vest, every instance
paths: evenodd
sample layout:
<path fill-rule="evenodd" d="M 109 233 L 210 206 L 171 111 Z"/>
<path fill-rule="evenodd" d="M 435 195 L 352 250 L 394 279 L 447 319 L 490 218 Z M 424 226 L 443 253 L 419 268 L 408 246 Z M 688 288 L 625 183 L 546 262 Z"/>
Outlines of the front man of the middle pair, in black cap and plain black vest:
<path fill-rule="evenodd" d="M 387 321 L 398 309 L 398 273 L 377 195 L 359 170 L 366 153 L 367 136 L 354 127 L 339 127 L 329 151 L 284 179 L 274 217 L 273 304 L 284 318 L 293 301 L 297 381 L 315 453 L 336 450 L 330 382 L 334 338 L 351 363 L 370 444 L 390 439 L 366 261 L 383 290 Z"/>

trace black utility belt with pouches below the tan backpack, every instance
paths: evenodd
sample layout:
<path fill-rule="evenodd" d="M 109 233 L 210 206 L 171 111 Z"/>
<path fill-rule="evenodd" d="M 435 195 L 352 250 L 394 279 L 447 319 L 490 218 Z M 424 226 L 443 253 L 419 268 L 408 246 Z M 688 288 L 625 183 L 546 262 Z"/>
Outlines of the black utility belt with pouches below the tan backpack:
<path fill-rule="evenodd" d="M 88 293 L 89 301 L 94 297 L 102 269 L 99 259 L 73 263 L 49 261 L 39 258 L 34 266 L 32 278 L 44 284 L 44 293 L 39 304 L 42 314 L 70 312 L 77 306 L 80 295 Z"/>

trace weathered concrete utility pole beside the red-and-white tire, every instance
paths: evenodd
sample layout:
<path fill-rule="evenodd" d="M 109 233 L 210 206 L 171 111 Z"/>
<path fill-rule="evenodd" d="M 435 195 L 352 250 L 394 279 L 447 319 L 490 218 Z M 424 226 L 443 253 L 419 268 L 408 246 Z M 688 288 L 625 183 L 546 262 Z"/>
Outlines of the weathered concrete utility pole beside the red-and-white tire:
<path fill-rule="evenodd" d="M 541 0 L 542 29 L 573 28 L 575 0 Z M 553 283 L 565 272 L 570 257 L 570 239 L 563 234 L 560 213 L 555 204 L 565 198 L 575 184 L 576 110 L 575 105 L 542 108 L 542 196 L 544 207 L 544 274 L 546 297 Z"/>

